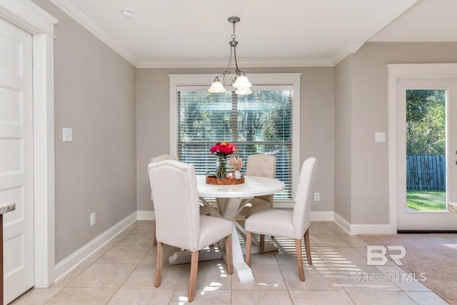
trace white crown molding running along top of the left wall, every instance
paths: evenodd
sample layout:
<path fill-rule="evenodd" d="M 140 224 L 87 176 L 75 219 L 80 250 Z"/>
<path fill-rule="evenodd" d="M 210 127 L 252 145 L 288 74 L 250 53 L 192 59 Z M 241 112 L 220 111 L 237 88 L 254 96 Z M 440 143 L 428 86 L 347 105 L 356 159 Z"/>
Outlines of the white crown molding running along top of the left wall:
<path fill-rule="evenodd" d="M 111 35 L 106 33 L 101 27 L 92 21 L 86 14 L 84 14 L 80 9 L 78 9 L 74 4 L 68 0 L 50 0 L 55 6 L 64 11 L 76 22 L 84 26 L 89 32 L 94 34 L 98 39 L 103 41 L 107 46 L 116 51 L 117 54 L 121 55 L 129 61 L 130 64 L 136 66 L 138 59 L 131 54 L 124 46 L 121 46 Z"/>

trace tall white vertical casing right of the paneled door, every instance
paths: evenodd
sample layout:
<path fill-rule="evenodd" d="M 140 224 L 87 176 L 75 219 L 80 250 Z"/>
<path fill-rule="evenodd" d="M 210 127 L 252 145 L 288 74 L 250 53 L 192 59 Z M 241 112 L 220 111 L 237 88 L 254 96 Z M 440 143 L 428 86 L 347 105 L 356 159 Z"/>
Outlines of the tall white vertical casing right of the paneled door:
<path fill-rule="evenodd" d="M 36 34 L 33 44 L 35 287 L 42 288 L 54 282 L 56 252 L 54 39 L 47 34 Z"/>

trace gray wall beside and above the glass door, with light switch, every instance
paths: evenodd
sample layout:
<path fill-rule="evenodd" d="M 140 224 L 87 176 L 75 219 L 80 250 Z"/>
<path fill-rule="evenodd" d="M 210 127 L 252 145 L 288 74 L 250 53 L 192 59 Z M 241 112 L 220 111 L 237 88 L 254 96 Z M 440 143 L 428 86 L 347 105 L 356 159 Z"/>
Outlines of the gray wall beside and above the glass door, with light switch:
<path fill-rule="evenodd" d="M 336 66 L 335 210 L 347 221 L 388 224 L 386 65 L 457 62 L 456 50 L 457 42 L 366 43 Z M 374 142 L 376 131 L 386 143 Z"/>

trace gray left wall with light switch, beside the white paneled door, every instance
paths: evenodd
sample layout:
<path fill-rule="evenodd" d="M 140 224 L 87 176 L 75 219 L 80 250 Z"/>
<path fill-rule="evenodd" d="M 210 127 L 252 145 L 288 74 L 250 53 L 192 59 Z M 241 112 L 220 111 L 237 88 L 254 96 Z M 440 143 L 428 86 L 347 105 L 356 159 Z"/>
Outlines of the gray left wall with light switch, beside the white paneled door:
<path fill-rule="evenodd" d="M 136 69 L 49 1 L 34 2 L 59 19 L 54 31 L 58 263 L 136 211 Z M 73 128 L 73 142 L 62 142 L 62 127 Z"/>

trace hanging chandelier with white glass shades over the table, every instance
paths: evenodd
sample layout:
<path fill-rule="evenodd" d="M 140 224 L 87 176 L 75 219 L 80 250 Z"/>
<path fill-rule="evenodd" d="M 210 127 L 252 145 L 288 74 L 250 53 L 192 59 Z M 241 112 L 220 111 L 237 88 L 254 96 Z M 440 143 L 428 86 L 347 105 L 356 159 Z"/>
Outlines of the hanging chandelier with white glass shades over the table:
<path fill-rule="evenodd" d="M 233 86 L 236 88 L 235 93 L 240 94 L 240 95 L 246 95 L 246 94 L 251 94 L 252 91 L 249 89 L 252 84 L 249 82 L 248 78 L 244 74 L 243 71 L 241 71 L 238 68 L 238 62 L 236 61 L 236 45 L 238 44 L 238 41 L 236 41 L 236 35 L 235 35 L 235 24 L 240 21 L 238 17 L 229 17 L 229 22 L 233 24 L 233 34 L 231 34 L 231 41 L 229 41 L 230 44 L 230 58 L 229 58 L 229 64 L 227 64 L 227 68 L 224 71 L 223 74 L 216 76 L 214 78 L 213 84 L 211 84 L 211 87 L 208 89 L 209 92 L 211 93 L 222 93 L 225 92 L 226 89 L 224 88 L 224 85 L 226 86 Z M 235 76 L 232 78 L 230 77 L 230 64 L 231 64 L 231 58 L 235 59 Z M 219 77 L 221 77 L 222 81 L 219 80 Z"/>

